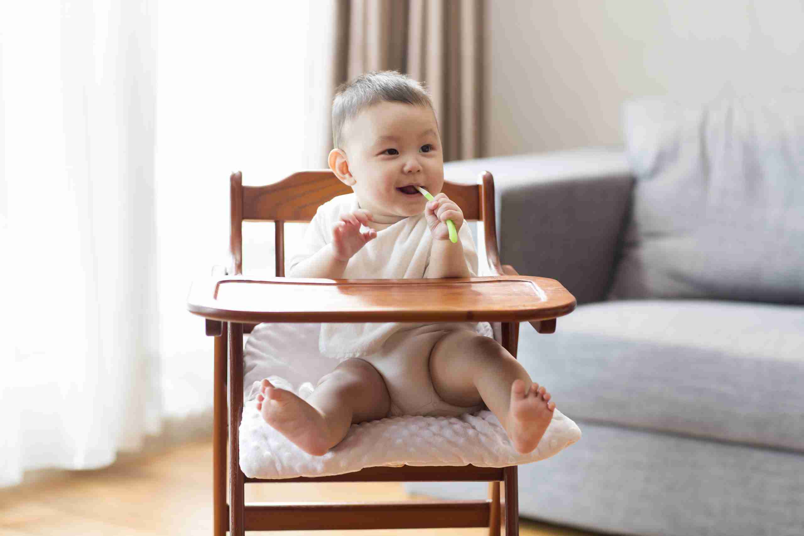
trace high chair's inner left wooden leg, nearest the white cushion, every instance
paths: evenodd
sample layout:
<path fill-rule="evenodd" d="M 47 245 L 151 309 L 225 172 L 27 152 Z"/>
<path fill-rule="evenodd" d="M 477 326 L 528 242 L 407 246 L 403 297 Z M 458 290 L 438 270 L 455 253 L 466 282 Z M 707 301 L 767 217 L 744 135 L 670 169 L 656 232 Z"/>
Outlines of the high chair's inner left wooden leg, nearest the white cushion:
<path fill-rule="evenodd" d="M 243 325 L 229 322 L 229 532 L 245 536 L 245 482 L 240 471 L 243 418 Z"/>

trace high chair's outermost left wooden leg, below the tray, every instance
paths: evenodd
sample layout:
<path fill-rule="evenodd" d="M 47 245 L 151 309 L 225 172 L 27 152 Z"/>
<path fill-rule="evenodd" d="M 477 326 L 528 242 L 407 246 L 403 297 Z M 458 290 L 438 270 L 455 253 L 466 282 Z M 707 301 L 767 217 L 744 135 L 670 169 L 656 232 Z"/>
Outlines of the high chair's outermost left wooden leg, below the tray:
<path fill-rule="evenodd" d="M 212 534 L 226 536 L 226 366 L 228 329 L 215 337 L 215 403 L 212 409 Z"/>

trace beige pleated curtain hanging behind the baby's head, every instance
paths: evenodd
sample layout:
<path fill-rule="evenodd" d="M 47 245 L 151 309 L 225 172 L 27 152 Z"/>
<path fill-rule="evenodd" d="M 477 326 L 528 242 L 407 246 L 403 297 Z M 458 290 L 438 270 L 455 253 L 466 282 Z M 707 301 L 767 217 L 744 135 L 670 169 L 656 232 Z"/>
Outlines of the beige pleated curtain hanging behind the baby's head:
<path fill-rule="evenodd" d="M 484 0 L 314 2 L 306 123 L 310 166 L 326 167 L 330 107 L 339 84 L 394 69 L 433 96 L 444 160 L 481 156 Z M 320 149 L 315 149 L 320 146 Z"/>

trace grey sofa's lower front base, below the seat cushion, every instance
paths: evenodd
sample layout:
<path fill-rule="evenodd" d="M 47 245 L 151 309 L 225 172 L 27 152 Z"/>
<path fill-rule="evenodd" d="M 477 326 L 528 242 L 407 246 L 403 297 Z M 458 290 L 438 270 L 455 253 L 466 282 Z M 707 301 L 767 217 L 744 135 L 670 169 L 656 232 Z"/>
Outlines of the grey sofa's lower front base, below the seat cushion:
<path fill-rule="evenodd" d="M 579 424 L 584 437 L 572 448 L 519 466 L 523 517 L 589 534 L 804 533 L 802 454 Z M 486 482 L 405 482 L 404 489 L 444 499 L 488 497 Z"/>

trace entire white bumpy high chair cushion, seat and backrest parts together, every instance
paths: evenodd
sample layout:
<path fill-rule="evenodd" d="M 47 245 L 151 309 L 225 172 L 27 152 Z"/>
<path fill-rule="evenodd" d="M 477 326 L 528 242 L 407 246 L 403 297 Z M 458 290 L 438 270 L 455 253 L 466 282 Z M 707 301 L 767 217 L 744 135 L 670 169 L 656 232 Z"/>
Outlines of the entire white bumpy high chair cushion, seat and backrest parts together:
<path fill-rule="evenodd" d="M 380 465 L 507 467 L 544 460 L 580 439 L 580 428 L 555 410 L 533 452 L 516 452 L 490 411 L 460 417 L 410 416 L 352 424 L 340 444 L 311 456 L 290 443 L 256 409 L 260 380 L 269 378 L 302 399 L 338 364 L 318 353 L 320 324 L 260 324 L 244 349 L 240 468 L 251 478 L 325 477 Z"/>

